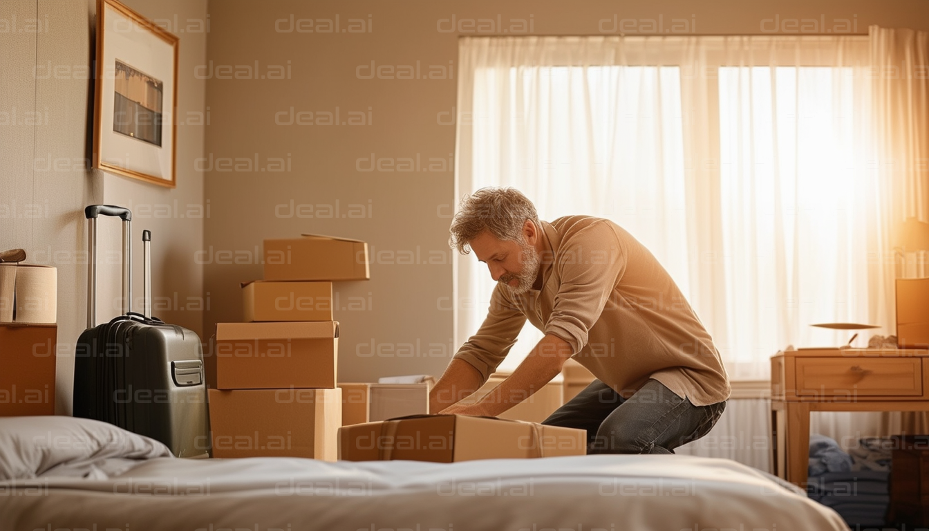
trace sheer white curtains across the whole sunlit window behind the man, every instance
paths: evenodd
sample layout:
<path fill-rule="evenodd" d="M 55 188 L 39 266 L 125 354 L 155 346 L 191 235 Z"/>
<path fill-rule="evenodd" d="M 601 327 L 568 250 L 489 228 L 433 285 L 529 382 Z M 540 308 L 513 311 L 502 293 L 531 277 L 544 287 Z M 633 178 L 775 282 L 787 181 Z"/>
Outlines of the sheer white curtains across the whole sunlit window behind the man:
<path fill-rule="evenodd" d="M 867 37 L 462 39 L 456 195 L 515 186 L 543 219 L 613 219 L 671 272 L 730 377 L 764 379 L 788 344 L 848 339 L 811 324 L 889 324 L 868 254 L 884 196 L 868 58 Z M 493 283 L 471 257 L 456 283 L 460 341 Z"/>

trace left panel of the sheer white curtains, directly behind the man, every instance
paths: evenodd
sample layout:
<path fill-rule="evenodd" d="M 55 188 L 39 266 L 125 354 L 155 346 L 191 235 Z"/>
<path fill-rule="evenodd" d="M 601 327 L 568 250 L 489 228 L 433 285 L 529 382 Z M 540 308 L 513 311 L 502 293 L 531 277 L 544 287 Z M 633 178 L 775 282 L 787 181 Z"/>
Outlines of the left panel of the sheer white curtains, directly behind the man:
<path fill-rule="evenodd" d="M 661 59 L 661 43 L 649 50 L 641 39 L 622 48 L 607 38 L 464 41 L 460 71 L 469 81 L 459 105 L 473 118 L 459 134 L 458 191 L 514 186 L 542 219 L 613 219 L 687 293 L 681 70 L 649 61 Z M 642 62 L 651 64 L 635 64 Z M 472 257 L 459 261 L 457 277 L 464 339 L 483 320 L 494 283 Z M 500 370 L 516 367 L 541 337 L 524 328 Z"/>

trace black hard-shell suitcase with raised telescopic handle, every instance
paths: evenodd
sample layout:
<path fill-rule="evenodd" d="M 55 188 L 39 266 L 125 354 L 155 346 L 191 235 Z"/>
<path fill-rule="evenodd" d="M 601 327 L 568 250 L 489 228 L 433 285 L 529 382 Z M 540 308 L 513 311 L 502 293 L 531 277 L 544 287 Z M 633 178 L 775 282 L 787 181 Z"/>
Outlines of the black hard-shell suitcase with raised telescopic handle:
<path fill-rule="evenodd" d="M 123 314 L 95 325 L 98 216 L 123 219 Z M 120 206 L 85 208 L 89 220 L 87 329 L 74 357 L 74 417 L 95 418 L 161 441 L 179 458 L 210 448 L 203 346 L 192 331 L 150 312 L 150 232 L 145 246 L 145 309 L 131 311 L 132 213 Z"/>

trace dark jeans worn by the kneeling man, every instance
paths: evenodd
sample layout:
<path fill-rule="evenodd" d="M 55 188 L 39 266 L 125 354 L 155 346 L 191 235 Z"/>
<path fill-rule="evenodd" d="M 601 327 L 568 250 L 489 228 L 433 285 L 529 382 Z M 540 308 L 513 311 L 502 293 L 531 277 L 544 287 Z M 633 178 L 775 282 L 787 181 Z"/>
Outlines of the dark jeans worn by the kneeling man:
<path fill-rule="evenodd" d="M 656 379 L 628 399 L 595 379 L 543 424 L 586 430 L 588 454 L 673 454 L 706 435 L 724 409 L 693 405 Z"/>

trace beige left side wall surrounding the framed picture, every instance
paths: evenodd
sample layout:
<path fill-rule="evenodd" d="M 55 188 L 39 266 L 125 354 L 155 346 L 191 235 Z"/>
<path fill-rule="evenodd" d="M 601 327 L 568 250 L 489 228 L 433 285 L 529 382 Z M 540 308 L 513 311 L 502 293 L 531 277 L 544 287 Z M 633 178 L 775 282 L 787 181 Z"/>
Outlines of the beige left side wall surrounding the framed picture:
<path fill-rule="evenodd" d="M 127 0 L 153 18 L 206 18 L 205 0 Z M 203 153 L 203 126 L 178 126 L 176 190 L 142 184 L 88 169 L 93 113 L 88 78 L 94 54 L 94 0 L 0 2 L 0 247 L 23 247 L 29 261 L 58 267 L 59 352 L 56 410 L 70 413 L 74 343 L 86 323 L 86 221 L 84 206 L 203 203 L 203 178 L 192 160 Z M 39 24 L 35 24 L 34 20 Z M 179 111 L 203 112 L 204 84 L 191 74 L 203 63 L 205 33 L 182 33 Z M 111 222 L 106 222 L 111 221 Z M 182 302 L 203 293 L 203 268 L 193 263 L 202 246 L 203 219 L 136 217 L 134 244 L 142 229 L 156 238 L 156 295 Z M 101 222 L 101 246 L 119 249 L 119 223 Z M 136 245 L 135 289 L 141 295 L 141 246 Z M 104 256 L 101 249 L 100 256 Z M 100 271 L 99 318 L 116 311 L 118 269 Z M 108 280 L 111 282 L 108 283 Z M 161 312 L 171 322 L 202 330 L 202 312 Z"/>

